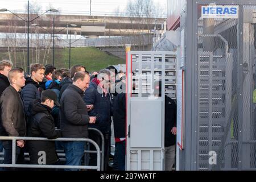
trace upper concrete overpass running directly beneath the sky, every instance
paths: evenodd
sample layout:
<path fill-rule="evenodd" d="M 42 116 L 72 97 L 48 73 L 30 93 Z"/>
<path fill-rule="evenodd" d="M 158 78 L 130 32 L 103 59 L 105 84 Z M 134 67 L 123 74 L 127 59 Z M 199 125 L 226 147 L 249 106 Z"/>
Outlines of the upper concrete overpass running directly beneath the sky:
<path fill-rule="evenodd" d="M 27 19 L 27 14 L 18 14 L 23 19 Z M 30 19 L 36 17 L 30 14 Z M 121 16 L 87 16 L 87 15 L 55 15 L 55 32 L 67 34 L 67 24 L 76 24 L 77 27 L 70 27 L 71 34 L 87 35 L 93 38 L 97 36 L 129 36 L 137 34 L 153 34 L 151 30 L 160 30 L 165 18 L 130 18 Z M 41 27 L 52 32 L 53 15 L 43 15 L 34 20 Z M 31 24 L 32 24 L 31 23 Z M 47 32 L 39 27 L 30 27 L 30 32 L 46 34 Z M 62 30 L 62 31 L 61 31 Z M 23 20 L 13 14 L 0 14 L 0 32 L 26 33 L 27 27 Z"/>

